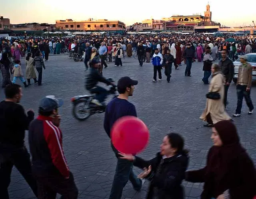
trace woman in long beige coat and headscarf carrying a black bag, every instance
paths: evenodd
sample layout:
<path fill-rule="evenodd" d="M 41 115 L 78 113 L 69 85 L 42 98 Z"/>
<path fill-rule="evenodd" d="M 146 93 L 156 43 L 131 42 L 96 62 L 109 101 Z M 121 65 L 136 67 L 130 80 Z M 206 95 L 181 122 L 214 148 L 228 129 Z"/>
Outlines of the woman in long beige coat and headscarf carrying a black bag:
<path fill-rule="evenodd" d="M 212 65 L 212 79 L 209 86 L 209 93 L 218 93 L 220 99 L 206 99 L 206 107 L 200 119 L 207 121 L 206 127 L 212 127 L 213 124 L 221 120 L 230 120 L 230 116 L 225 111 L 223 104 L 224 99 L 224 84 L 226 80 L 222 74 L 221 67 L 218 64 Z"/>

